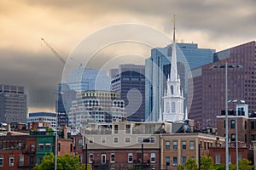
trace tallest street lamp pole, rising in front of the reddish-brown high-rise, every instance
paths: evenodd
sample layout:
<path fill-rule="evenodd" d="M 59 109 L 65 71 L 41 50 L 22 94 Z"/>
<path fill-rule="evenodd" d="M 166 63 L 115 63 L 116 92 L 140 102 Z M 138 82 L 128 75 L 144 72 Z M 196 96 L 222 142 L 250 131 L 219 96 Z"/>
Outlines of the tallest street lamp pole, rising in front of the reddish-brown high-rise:
<path fill-rule="evenodd" d="M 212 65 L 210 69 L 224 68 L 225 69 L 225 158 L 226 170 L 229 170 L 229 120 L 228 120 L 228 68 L 242 68 L 242 65 L 234 65 L 225 62 L 225 65 Z"/>

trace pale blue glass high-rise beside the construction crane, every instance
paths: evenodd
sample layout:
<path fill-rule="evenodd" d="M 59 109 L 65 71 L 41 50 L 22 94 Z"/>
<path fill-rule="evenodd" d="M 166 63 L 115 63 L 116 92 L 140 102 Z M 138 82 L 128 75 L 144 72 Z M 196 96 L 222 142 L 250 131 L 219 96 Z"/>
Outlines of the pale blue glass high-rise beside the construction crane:
<path fill-rule="evenodd" d="M 58 126 L 68 125 L 67 113 L 70 111 L 73 100 L 76 99 L 77 92 L 87 90 L 109 90 L 110 77 L 106 71 L 79 68 L 71 70 L 65 75 L 58 85 L 57 99 L 55 101 L 55 111 L 58 113 Z"/>

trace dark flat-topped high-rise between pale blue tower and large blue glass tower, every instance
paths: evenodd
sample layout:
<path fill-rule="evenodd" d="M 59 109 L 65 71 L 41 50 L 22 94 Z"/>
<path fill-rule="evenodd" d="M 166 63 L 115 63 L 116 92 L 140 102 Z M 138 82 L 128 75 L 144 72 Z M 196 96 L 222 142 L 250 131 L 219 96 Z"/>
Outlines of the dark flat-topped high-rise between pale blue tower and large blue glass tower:
<path fill-rule="evenodd" d="M 125 101 L 127 120 L 145 121 L 145 65 L 119 65 L 110 70 L 111 91 Z"/>

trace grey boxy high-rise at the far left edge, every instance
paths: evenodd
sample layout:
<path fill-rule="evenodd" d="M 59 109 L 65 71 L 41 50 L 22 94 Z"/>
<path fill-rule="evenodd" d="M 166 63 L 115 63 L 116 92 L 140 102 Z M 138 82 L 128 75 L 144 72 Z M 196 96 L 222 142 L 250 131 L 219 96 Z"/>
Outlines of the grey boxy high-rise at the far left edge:
<path fill-rule="evenodd" d="M 24 87 L 0 84 L 0 122 L 26 123 L 27 95 Z"/>

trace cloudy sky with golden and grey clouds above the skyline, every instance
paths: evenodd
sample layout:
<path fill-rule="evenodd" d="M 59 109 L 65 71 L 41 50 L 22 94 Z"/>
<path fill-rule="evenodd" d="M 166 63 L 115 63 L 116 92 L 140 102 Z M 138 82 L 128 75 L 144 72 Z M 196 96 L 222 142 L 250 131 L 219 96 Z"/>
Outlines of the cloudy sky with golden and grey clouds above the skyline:
<path fill-rule="evenodd" d="M 25 86 L 30 112 L 55 111 L 64 65 L 41 37 L 66 59 L 79 42 L 106 26 L 135 23 L 172 37 L 176 14 L 178 42 L 219 51 L 256 40 L 255 6 L 255 0 L 2 0 L 0 83 Z M 150 49 L 144 55 L 149 54 Z"/>

